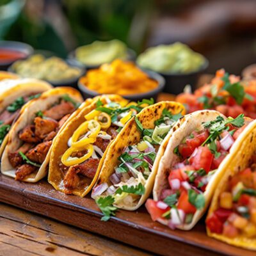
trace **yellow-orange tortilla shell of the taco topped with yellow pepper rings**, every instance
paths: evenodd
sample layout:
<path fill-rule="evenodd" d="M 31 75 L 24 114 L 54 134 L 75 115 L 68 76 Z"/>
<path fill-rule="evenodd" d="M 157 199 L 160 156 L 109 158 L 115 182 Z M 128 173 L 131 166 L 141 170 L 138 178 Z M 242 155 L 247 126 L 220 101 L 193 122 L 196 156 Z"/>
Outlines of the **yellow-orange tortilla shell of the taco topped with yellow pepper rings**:
<path fill-rule="evenodd" d="M 68 148 L 67 146 L 68 140 L 73 135 L 74 131 L 76 131 L 77 127 L 79 127 L 79 125 L 81 125 L 83 122 L 86 121 L 84 119 L 84 115 L 90 113 L 93 109 L 97 108 L 96 102 L 98 99 L 100 99 L 104 104 L 108 102 L 107 99 L 114 102 L 127 101 L 119 95 L 102 95 L 102 96 L 95 97 L 93 98 L 92 104 L 90 104 L 90 106 L 87 106 L 86 108 L 81 109 L 81 112 L 79 113 L 79 115 L 74 117 L 72 120 L 70 120 L 70 122 L 67 123 L 67 125 L 65 125 L 65 128 L 60 132 L 58 138 L 56 138 L 52 143 L 52 154 L 51 154 L 51 159 L 49 163 L 48 182 L 52 184 L 52 186 L 56 190 L 59 190 L 61 192 L 64 192 L 65 190 L 65 187 L 63 186 L 64 177 L 63 177 L 63 173 L 61 173 L 60 171 L 59 163 L 60 163 L 61 156 L 64 154 L 64 152 Z M 111 143 L 109 143 L 109 145 L 110 144 Z M 74 195 L 83 197 L 90 192 L 90 190 L 93 188 L 93 185 L 97 180 L 100 168 L 102 166 L 102 163 L 104 161 L 107 151 L 108 151 L 108 148 L 106 149 L 106 151 L 104 152 L 104 155 L 100 159 L 97 172 L 91 184 L 89 186 L 83 186 L 83 188 L 74 189 L 72 191 Z"/>

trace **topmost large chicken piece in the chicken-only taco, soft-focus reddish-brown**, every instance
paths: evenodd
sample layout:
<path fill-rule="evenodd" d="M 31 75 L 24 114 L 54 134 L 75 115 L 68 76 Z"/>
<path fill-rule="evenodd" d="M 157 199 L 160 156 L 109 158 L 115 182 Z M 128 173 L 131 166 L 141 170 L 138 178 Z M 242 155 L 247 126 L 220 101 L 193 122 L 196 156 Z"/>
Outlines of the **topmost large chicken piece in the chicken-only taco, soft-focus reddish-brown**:
<path fill-rule="evenodd" d="M 44 116 L 52 118 L 54 120 L 60 120 L 63 116 L 72 113 L 75 110 L 74 105 L 71 102 L 61 100 L 60 104 L 53 106 L 52 108 L 44 111 Z"/>

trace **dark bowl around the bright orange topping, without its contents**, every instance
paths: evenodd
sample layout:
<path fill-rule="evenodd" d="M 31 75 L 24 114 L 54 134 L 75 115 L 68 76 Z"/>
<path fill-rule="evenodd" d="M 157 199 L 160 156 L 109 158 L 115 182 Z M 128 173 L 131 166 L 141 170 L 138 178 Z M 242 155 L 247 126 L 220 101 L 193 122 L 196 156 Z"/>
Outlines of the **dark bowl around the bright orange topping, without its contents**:
<path fill-rule="evenodd" d="M 154 90 L 151 90 L 149 92 L 146 92 L 146 93 L 121 95 L 122 97 L 124 97 L 125 99 L 128 99 L 128 100 L 132 100 L 132 101 L 153 98 L 156 102 L 157 95 L 163 91 L 164 84 L 165 84 L 164 78 L 154 71 L 145 71 L 144 70 L 144 72 L 146 72 L 150 78 L 157 81 L 157 83 L 158 83 L 157 88 Z M 84 99 L 92 98 L 97 95 L 100 95 L 100 93 L 98 93 L 98 92 L 89 90 L 86 86 L 84 86 L 84 84 L 80 83 L 80 81 L 78 81 L 78 88 L 82 92 Z"/>

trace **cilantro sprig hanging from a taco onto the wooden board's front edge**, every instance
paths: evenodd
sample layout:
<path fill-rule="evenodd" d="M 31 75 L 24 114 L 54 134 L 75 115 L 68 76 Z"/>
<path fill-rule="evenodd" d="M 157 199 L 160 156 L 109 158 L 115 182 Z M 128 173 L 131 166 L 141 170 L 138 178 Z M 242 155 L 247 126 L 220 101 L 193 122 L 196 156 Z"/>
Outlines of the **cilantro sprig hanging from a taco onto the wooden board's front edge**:
<path fill-rule="evenodd" d="M 115 198 L 112 196 L 100 197 L 96 200 L 96 204 L 98 205 L 100 211 L 104 214 L 101 218 L 102 221 L 108 221 L 111 216 L 115 216 L 116 207 L 113 206 L 115 202 Z"/>

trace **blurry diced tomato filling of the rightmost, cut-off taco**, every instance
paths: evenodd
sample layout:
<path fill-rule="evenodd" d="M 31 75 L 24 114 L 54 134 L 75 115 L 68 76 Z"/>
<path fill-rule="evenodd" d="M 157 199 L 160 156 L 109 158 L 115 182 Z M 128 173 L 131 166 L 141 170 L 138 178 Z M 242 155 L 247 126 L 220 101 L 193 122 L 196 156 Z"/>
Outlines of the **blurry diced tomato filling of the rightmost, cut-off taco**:
<path fill-rule="evenodd" d="M 255 157 L 253 157 L 254 160 Z M 256 238 L 256 163 L 236 173 L 220 193 L 218 209 L 206 220 L 212 233 Z"/>

